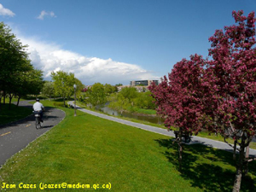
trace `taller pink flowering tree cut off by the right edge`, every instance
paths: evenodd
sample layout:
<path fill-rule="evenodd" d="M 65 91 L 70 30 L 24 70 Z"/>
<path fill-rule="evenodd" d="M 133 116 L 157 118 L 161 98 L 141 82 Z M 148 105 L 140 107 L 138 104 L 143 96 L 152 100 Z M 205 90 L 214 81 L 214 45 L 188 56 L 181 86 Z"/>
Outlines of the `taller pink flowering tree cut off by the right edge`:
<path fill-rule="evenodd" d="M 256 131 L 256 49 L 254 12 L 247 17 L 233 11 L 237 25 L 224 26 L 209 38 L 212 48 L 203 85 L 209 88 L 207 99 L 212 110 L 207 117 L 224 138 L 232 137 L 240 145 L 233 191 L 239 191 L 241 176 L 249 159 L 245 148 Z M 209 105 L 205 106 L 209 107 Z"/>

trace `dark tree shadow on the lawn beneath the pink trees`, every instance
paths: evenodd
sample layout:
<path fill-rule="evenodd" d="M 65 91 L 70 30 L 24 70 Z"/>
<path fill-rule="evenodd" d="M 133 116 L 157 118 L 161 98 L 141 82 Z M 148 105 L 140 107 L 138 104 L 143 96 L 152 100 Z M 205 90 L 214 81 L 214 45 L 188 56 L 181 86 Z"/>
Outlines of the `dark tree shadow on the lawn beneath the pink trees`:
<path fill-rule="evenodd" d="M 171 139 L 155 140 L 166 148 L 167 160 L 178 170 L 177 144 Z M 251 175 L 256 174 L 256 163 L 249 164 Z M 192 187 L 204 191 L 232 191 L 236 175 L 236 165 L 232 153 L 207 148 L 201 144 L 183 145 L 183 171 L 181 176 L 190 181 Z M 254 178 L 255 179 L 255 178 Z M 242 177 L 241 191 L 256 191 L 256 183 L 251 176 Z"/>

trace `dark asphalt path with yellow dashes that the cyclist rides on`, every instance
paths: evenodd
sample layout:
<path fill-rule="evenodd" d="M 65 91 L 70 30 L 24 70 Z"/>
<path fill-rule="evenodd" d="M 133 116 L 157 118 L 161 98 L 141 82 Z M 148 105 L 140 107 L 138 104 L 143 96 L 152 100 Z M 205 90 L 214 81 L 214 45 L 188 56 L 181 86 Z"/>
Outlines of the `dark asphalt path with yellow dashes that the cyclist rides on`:
<path fill-rule="evenodd" d="M 32 110 L 32 104 L 28 102 L 31 101 L 22 101 L 19 106 L 31 108 Z M 44 124 L 39 130 L 36 129 L 34 115 L 30 115 L 15 123 L 0 125 L 0 166 L 12 155 L 19 152 L 22 148 L 26 148 L 29 143 L 43 135 L 46 131 L 49 131 L 65 118 L 65 112 L 60 109 L 45 109 Z"/>

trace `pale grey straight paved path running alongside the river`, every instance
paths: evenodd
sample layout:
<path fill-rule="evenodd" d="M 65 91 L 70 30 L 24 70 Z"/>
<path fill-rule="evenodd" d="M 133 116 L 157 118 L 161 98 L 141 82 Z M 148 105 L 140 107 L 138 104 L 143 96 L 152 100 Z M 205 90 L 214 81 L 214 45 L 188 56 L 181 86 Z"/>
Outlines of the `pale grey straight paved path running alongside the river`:
<path fill-rule="evenodd" d="M 68 102 L 68 104 L 73 105 L 73 102 Z M 93 111 L 90 111 L 90 110 L 87 110 L 87 109 L 84 109 L 84 108 L 79 108 L 78 106 L 77 106 L 77 109 L 79 109 L 80 111 L 82 111 L 84 113 L 90 113 L 92 115 L 95 115 L 95 116 L 103 118 L 103 119 L 113 120 L 113 121 L 121 123 L 121 124 L 131 125 L 131 126 L 134 126 L 134 127 L 146 130 L 146 131 L 159 133 L 159 134 L 165 135 L 165 136 L 175 137 L 173 131 L 167 131 L 166 129 L 161 129 L 161 128 L 158 128 L 158 127 L 155 127 L 155 126 L 143 125 L 143 124 L 131 122 L 131 121 L 128 121 L 128 120 L 115 118 L 113 116 L 108 116 L 106 114 L 96 113 L 96 112 L 93 112 Z M 214 141 L 212 139 L 207 139 L 207 138 L 203 138 L 203 137 L 196 137 L 196 136 L 193 136 L 191 140 L 192 141 L 188 144 L 201 143 L 201 144 L 204 144 L 208 147 L 220 148 L 220 149 L 223 149 L 223 150 L 226 150 L 226 151 L 233 152 L 233 148 L 231 148 L 227 143 L 218 142 L 218 141 Z M 255 149 L 250 149 L 250 154 L 256 155 L 256 150 Z"/>

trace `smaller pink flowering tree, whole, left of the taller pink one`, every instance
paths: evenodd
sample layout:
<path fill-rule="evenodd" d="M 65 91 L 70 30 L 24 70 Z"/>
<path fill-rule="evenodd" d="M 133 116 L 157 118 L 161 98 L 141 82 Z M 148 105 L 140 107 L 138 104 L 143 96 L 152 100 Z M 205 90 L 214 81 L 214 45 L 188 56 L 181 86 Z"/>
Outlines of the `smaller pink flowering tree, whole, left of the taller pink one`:
<path fill-rule="evenodd" d="M 161 83 L 156 86 L 152 84 L 157 112 L 164 118 L 165 125 L 169 130 L 177 130 L 178 137 L 178 160 L 179 170 L 182 170 L 182 136 L 192 135 L 201 131 L 201 112 L 203 106 L 201 79 L 204 73 L 205 60 L 200 55 L 191 55 L 190 61 L 183 59 L 177 62 Z"/>

